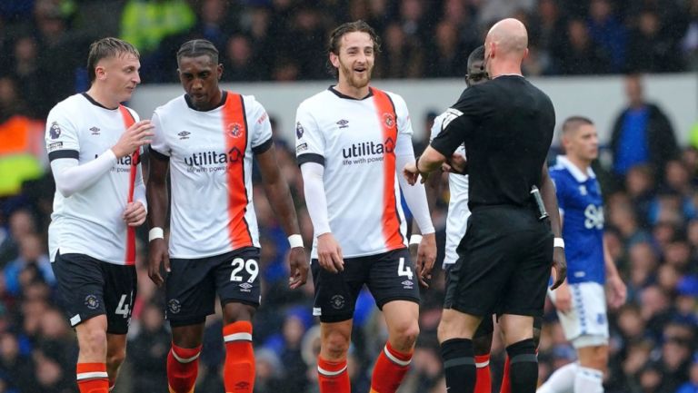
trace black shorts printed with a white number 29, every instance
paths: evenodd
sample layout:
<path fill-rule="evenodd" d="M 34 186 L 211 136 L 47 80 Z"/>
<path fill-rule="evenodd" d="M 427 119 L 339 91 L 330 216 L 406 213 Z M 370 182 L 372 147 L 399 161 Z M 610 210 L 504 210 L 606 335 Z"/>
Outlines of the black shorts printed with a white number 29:
<path fill-rule="evenodd" d="M 165 319 L 175 327 L 204 322 L 215 311 L 216 293 L 222 306 L 234 301 L 259 307 L 260 274 L 256 247 L 193 260 L 171 259 Z"/>

